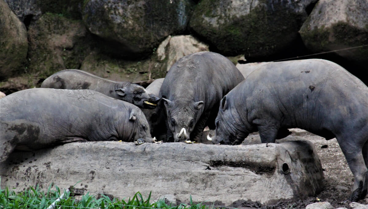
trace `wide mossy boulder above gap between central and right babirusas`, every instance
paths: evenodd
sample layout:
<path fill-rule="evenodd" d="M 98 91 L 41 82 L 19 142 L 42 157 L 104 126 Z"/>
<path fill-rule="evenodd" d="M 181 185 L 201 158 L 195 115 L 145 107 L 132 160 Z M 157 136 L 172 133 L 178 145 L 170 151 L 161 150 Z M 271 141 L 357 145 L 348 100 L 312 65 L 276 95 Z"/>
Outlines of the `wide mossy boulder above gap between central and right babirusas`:
<path fill-rule="evenodd" d="M 314 1 L 202 0 L 189 26 L 223 55 L 271 56 L 293 49 Z"/>

